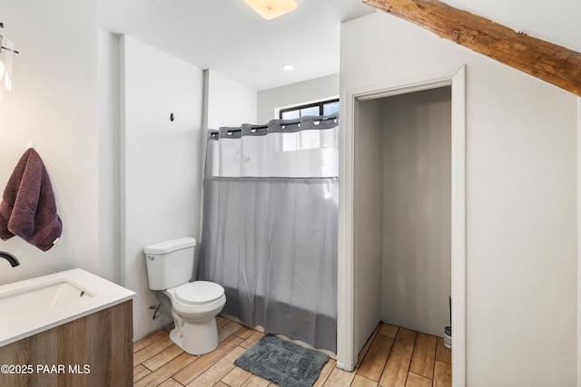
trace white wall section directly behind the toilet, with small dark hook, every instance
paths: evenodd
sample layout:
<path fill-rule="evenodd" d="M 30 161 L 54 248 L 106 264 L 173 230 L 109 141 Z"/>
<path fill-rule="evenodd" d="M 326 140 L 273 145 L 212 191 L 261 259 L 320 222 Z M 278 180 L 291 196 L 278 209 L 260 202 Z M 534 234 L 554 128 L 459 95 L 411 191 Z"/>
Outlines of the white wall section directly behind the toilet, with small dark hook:
<path fill-rule="evenodd" d="M 172 321 L 167 299 L 163 318 L 153 320 L 148 309 L 158 302 L 143 247 L 175 237 L 200 240 L 203 73 L 129 35 L 121 49 L 122 254 L 124 285 L 137 293 L 139 339 Z"/>

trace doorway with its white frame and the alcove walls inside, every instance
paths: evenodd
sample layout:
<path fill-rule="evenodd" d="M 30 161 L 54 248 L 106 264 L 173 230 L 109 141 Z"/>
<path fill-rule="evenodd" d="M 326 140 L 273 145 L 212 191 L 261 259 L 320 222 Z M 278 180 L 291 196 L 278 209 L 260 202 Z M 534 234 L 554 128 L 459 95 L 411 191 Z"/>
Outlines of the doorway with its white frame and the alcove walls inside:
<path fill-rule="evenodd" d="M 338 366 L 352 370 L 381 320 L 442 336 L 451 295 L 452 380 L 463 385 L 465 69 L 401 84 L 343 97 Z"/>

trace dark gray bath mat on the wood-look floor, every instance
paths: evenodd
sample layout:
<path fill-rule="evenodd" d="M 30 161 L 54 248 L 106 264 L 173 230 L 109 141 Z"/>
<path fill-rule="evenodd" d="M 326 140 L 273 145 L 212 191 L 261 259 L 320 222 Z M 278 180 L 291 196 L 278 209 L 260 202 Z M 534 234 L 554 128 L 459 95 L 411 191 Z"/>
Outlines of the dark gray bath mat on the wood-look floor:
<path fill-rule="evenodd" d="M 267 334 L 234 364 L 281 387 L 310 387 L 328 361 L 324 353 Z"/>

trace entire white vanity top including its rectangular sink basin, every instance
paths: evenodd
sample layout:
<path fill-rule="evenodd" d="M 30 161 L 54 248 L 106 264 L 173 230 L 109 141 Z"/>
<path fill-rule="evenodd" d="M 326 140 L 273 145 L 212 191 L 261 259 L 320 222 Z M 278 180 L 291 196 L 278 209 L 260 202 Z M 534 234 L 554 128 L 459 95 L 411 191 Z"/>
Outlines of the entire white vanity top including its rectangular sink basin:
<path fill-rule="evenodd" d="M 121 304 L 135 293 L 76 268 L 0 286 L 0 346 Z"/>

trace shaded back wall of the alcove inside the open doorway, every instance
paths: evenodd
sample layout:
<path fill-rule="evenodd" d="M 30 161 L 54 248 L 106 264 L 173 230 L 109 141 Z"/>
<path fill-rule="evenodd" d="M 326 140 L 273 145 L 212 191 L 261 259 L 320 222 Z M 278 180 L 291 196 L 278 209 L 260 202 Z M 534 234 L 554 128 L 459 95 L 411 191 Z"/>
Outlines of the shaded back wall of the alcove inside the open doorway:
<path fill-rule="evenodd" d="M 450 324 L 450 95 L 449 88 L 438 88 L 379 100 L 381 319 L 440 337 Z"/>

